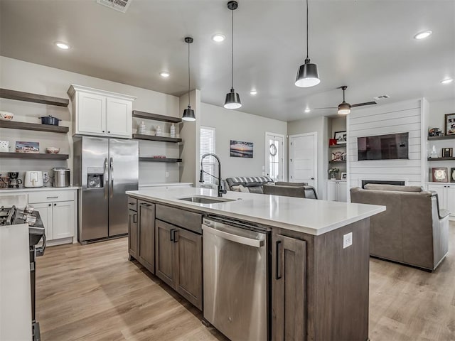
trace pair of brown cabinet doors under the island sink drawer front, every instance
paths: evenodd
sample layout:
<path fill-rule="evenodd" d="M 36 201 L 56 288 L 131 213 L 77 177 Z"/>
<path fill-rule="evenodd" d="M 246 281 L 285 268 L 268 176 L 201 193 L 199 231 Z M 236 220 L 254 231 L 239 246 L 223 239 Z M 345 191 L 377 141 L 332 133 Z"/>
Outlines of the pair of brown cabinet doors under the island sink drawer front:
<path fill-rule="evenodd" d="M 156 220 L 156 276 L 202 310 L 202 236 Z"/>

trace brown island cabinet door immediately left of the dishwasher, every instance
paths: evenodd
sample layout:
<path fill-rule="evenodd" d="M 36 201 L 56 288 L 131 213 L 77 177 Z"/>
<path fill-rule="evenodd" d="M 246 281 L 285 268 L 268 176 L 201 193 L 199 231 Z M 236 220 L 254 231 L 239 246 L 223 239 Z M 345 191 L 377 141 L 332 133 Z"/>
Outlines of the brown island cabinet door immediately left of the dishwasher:
<path fill-rule="evenodd" d="M 178 229 L 174 242 L 176 291 L 202 310 L 202 236 Z"/>

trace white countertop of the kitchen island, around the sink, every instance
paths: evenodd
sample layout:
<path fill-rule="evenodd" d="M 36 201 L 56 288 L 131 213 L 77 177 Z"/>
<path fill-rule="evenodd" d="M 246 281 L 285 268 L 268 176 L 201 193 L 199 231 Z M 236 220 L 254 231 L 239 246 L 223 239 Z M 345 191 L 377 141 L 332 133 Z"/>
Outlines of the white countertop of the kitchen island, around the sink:
<path fill-rule="evenodd" d="M 358 222 L 385 211 L 385 206 L 302 199 L 254 193 L 228 191 L 223 197 L 235 199 L 216 204 L 198 204 L 178 200 L 179 197 L 210 195 L 215 190 L 203 188 L 170 188 L 127 191 L 128 195 L 153 200 L 164 204 L 180 206 L 240 220 L 268 224 L 298 232 L 320 235 L 338 229 L 346 224 Z"/>

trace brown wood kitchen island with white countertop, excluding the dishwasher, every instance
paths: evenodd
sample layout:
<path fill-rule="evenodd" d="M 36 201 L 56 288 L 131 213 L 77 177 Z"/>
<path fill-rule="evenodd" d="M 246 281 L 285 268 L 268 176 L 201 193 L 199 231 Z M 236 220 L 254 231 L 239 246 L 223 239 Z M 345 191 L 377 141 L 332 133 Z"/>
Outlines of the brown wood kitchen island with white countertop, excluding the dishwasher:
<path fill-rule="evenodd" d="M 200 310 L 203 217 L 227 218 L 269 231 L 270 339 L 368 340 L 369 217 L 385 207 L 237 192 L 188 201 L 216 200 L 201 188 L 127 194 L 130 257 Z"/>

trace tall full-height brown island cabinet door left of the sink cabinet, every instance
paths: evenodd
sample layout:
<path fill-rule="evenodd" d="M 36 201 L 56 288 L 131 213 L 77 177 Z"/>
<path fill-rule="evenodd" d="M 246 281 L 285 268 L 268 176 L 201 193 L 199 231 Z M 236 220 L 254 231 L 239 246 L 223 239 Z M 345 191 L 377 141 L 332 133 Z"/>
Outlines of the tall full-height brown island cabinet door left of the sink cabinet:
<path fill-rule="evenodd" d="M 138 200 L 138 261 L 155 273 L 155 205 Z"/>

